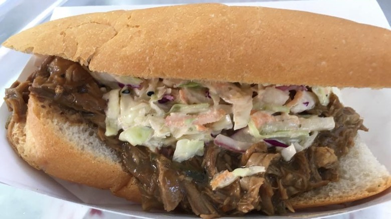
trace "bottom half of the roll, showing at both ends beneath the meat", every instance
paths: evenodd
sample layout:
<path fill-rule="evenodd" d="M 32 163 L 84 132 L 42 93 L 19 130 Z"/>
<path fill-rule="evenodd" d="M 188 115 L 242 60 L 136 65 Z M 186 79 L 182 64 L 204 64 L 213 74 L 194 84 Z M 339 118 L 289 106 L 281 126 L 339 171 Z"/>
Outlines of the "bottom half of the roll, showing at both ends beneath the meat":
<path fill-rule="evenodd" d="M 52 176 L 110 189 L 118 196 L 140 202 L 135 179 L 122 170 L 116 154 L 95 136 L 85 137 L 90 131 L 85 125 L 67 123 L 34 96 L 29 99 L 27 123 L 10 124 L 8 137 L 30 165 Z M 340 166 L 339 181 L 293 198 L 292 205 L 305 208 L 337 204 L 374 195 L 391 186 L 387 169 L 359 138 L 340 160 Z"/>

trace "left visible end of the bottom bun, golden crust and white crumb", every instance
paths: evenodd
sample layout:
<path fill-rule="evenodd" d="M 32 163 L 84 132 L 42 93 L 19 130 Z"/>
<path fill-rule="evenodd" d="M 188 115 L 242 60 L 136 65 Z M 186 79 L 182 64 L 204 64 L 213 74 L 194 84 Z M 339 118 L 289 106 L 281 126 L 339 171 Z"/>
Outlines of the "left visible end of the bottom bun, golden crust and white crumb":
<path fill-rule="evenodd" d="M 135 178 L 122 170 L 117 155 L 92 132 L 85 124 L 69 123 L 47 102 L 30 95 L 27 121 L 11 120 L 7 137 L 35 168 L 140 202 Z"/>

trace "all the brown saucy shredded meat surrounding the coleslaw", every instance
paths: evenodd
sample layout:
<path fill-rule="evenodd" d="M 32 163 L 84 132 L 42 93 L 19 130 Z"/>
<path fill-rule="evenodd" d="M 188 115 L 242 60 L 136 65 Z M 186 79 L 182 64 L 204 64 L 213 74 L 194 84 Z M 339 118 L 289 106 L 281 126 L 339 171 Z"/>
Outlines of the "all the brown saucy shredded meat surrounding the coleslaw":
<path fill-rule="evenodd" d="M 122 142 L 118 135 L 105 136 L 107 103 L 102 99 L 101 85 L 78 63 L 49 57 L 26 82 L 15 82 L 6 89 L 5 99 L 14 119 L 26 118 L 29 95 L 51 101 L 95 125 L 99 138 L 118 152 L 124 169 L 137 178 L 143 209 L 193 212 L 204 218 L 253 210 L 268 215 L 293 210 L 290 197 L 338 180 L 338 158 L 353 145 L 357 130 L 366 130 L 360 116 L 331 94 L 327 106 L 317 104 L 307 113 L 333 116 L 335 128 L 321 131 L 313 145 L 296 153 L 289 162 L 264 143 L 252 145 L 243 154 L 210 143 L 204 156 L 179 163 L 171 160 L 171 147 L 150 151 Z M 265 166 L 267 171 L 216 190 L 209 184 L 221 171 L 253 165 Z"/>

